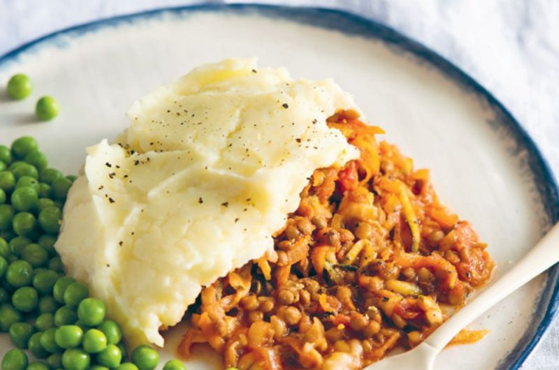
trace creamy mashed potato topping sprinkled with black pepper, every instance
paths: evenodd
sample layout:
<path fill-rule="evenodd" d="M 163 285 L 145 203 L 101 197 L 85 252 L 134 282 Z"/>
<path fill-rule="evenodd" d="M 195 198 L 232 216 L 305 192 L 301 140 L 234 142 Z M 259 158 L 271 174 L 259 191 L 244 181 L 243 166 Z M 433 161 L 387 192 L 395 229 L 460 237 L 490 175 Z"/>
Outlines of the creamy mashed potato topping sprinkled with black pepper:
<path fill-rule="evenodd" d="M 87 149 L 56 249 L 130 344 L 164 344 L 206 286 L 273 250 L 315 169 L 358 158 L 326 118 L 355 109 L 331 80 L 255 59 L 196 68 L 133 104 Z"/>

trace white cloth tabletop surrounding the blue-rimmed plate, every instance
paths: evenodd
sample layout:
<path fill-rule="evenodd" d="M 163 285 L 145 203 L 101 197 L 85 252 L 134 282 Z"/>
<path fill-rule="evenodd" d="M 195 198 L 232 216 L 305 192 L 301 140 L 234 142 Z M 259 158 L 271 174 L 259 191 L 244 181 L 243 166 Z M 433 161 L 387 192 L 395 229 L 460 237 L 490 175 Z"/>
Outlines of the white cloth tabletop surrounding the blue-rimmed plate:
<path fill-rule="evenodd" d="M 0 55 L 57 29 L 188 0 L 0 0 Z M 249 1 L 244 1 L 249 2 Z M 491 91 L 532 135 L 559 175 L 559 1 L 261 0 L 340 8 L 428 45 Z M 559 320 L 525 370 L 559 367 Z"/>

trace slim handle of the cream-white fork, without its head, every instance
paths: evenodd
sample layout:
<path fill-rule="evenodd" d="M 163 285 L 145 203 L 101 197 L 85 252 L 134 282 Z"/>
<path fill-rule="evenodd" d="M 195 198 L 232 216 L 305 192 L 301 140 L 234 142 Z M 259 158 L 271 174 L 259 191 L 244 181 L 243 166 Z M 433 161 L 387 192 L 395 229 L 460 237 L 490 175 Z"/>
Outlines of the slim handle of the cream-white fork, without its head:
<path fill-rule="evenodd" d="M 507 297 L 559 261 L 559 223 L 498 281 L 483 290 L 424 341 L 442 350 L 453 337 L 481 313 Z"/>

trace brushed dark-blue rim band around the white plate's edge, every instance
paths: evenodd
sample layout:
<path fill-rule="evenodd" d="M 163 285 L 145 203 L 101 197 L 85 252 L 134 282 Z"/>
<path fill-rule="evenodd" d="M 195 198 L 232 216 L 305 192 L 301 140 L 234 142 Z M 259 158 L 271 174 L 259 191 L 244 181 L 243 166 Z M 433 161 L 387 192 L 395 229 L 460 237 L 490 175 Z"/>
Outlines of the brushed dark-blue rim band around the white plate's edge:
<path fill-rule="evenodd" d="M 162 8 L 150 10 L 143 13 L 133 15 L 122 15 L 112 17 L 106 20 L 99 20 L 87 24 L 81 24 L 75 27 L 56 31 L 47 36 L 43 36 L 33 40 L 21 47 L 17 47 L 2 57 L 0 57 L 0 69 L 8 64 L 17 63 L 19 57 L 24 52 L 28 52 L 32 47 L 38 44 L 57 43 L 57 36 L 61 34 L 71 34 L 79 36 L 96 31 L 102 27 L 115 26 L 126 22 L 132 22 L 140 18 L 159 17 L 164 13 L 182 13 L 188 12 L 205 12 L 205 11 L 224 11 L 233 13 L 258 13 L 266 17 L 282 18 L 303 24 L 310 24 L 314 27 L 325 29 L 334 29 L 343 34 L 361 36 L 364 38 L 382 40 L 384 43 L 393 47 L 397 52 L 412 54 L 423 63 L 429 64 L 433 68 L 441 71 L 456 84 L 470 89 L 478 94 L 490 105 L 491 110 L 498 114 L 500 124 L 506 126 L 517 145 L 528 153 L 526 161 L 535 177 L 537 191 L 544 200 L 545 211 L 547 216 L 553 223 L 559 220 L 559 188 L 553 173 L 546 163 L 541 152 L 530 138 L 521 124 L 516 121 L 512 114 L 500 103 L 495 96 L 481 86 L 476 80 L 467 75 L 460 68 L 444 59 L 440 54 L 430 50 L 425 45 L 412 40 L 407 36 L 403 36 L 395 29 L 387 27 L 384 24 L 365 19 L 358 15 L 346 13 L 341 10 L 332 10 L 326 8 L 302 8 L 288 6 L 270 6 L 261 4 L 232 4 L 232 5 L 195 5 L 182 6 L 177 8 Z M 542 338 L 549 325 L 556 316 L 559 308 L 559 266 L 550 270 L 546 286 L 541 298 L 537 304 L 537 311 L 543 312 L 541 317 L 537 318 L 533 325 L 516 344 L 514 350 L 504 359 L 500 368 L 518 369 L 526 360 L 528 355 L 535 348 L 539 340 Z"/>

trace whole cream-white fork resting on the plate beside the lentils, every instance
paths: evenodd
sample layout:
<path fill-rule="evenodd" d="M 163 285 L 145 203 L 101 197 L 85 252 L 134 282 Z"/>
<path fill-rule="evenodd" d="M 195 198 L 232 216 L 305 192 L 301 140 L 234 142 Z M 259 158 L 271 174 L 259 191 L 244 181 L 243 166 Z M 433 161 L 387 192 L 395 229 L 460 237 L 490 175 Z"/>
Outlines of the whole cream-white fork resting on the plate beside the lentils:
<path fill-rule="evenodd" d="M 471 323 L 477 316 L 507 295 L 520 288 L 549 267 L 559 262 L 559 223 L 547 233 L 514 267 L 498 281 L 482 291 L 472 302 L 454 313 L 449 320 L 435 330 L 414 349 L 386 357 L 384 360 L 370 364 L 363 370 L 431 370 L 435 357 L 447 346 L 447 343 Z"/>

